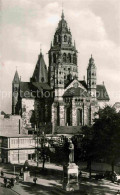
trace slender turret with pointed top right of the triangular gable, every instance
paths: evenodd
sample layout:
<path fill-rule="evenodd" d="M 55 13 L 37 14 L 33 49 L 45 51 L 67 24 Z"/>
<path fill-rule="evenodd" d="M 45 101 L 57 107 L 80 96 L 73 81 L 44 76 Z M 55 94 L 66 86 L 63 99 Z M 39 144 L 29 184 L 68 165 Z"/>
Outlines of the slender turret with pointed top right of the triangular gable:
<path fill-rule="evenodd" d="M 96 66 L 94 63 L 94 59 L 91 55 L 87 68 L 87 86 L 88 92 L 93 98 L 96 98 L 96 80 L 97 80 Z"/>

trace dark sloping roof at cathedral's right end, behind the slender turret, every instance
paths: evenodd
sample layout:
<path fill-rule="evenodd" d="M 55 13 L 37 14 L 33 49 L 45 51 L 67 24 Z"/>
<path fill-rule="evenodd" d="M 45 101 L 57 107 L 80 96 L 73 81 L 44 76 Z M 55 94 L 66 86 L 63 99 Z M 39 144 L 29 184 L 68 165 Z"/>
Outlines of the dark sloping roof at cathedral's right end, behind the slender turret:
<path fill-rule="evenodd" d="M 98 100 L 110 100 L 105 85 L 97 85 L 96 96 Z"/>

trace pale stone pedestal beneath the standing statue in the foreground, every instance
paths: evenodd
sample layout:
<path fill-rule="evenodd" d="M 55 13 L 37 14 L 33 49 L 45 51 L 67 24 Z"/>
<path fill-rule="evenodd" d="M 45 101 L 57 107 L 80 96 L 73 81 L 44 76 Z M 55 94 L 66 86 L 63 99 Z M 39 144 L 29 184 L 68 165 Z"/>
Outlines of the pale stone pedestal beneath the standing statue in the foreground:
<path fill-rule="evenodd" d="M 75 163 L 68 163 L 63 167 L 63 189 L 65 191 L 79 190 L 78 166 Z"/>

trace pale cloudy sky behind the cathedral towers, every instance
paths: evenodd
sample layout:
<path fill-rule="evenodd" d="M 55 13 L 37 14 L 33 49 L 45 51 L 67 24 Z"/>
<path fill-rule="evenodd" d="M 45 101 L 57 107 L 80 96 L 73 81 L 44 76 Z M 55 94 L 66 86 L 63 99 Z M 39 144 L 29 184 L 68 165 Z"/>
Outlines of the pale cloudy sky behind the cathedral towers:
<path fill-rule="evenodd" d="M 11 113 L 15 71 L 29 81 L 40 47 L 48 66 L 62 4 L 78 50 L 79 79 L 92 54 L 97 84 L 104 81 L 111 105 L 120 102 L 120 0 L 0 0 L 0 110 Z"/>

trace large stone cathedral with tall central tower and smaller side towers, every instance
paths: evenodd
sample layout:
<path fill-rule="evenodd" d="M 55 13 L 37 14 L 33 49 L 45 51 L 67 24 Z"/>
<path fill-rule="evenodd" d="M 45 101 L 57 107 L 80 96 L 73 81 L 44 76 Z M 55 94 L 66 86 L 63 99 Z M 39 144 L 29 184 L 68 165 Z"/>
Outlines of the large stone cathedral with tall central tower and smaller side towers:
<path fill-rule="evenodd" d="M 87 80 L 78 79 L 77 49 L 64 13 L 48 52 L 48 69 L 40 52 L 29 82 L 18 72 L 12 82 L 12 114 L 20 115 L 22 128 L 39 128 L 45 133 L 78 133 L 91 125 L 95 112 L 109 102 L 104 83 L 97 84 L 93 56 L 87 67 Z"/>

